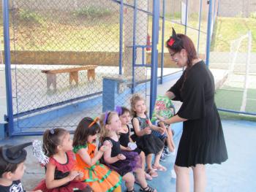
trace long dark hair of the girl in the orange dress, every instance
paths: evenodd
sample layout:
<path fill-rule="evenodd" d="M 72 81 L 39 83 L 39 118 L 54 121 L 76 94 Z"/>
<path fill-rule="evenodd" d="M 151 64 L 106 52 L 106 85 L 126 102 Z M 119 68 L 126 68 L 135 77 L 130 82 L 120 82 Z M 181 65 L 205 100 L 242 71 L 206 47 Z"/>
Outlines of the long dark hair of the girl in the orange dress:
<path fill-rule="evenodd" d="M 89 127 L 90 126 L 90 127 Z M 86 145 L 89 135 L 95 135 L 99 132 L 99 124 L 92 118 L 83 118 L 75 129 L 73 138 L 73 147 Z"/>

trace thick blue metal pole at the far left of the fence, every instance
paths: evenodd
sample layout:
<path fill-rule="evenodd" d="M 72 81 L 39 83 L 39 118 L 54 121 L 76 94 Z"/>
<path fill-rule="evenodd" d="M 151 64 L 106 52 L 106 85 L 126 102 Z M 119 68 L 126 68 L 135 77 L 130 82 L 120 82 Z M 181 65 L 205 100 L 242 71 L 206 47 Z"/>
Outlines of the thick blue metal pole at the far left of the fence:
<path fill-rule="evenodd" d="M 13 133 L 13 110 L 12 110 L 12 73 L 11 73 L 11 53 L 10 53 L 10 33 L 9 33 L 9 2 L 3 0 L 3 21 L 4 21 L 4 64 L 5 80 L 7 91 L 7 126 L 9 135 Z"/>

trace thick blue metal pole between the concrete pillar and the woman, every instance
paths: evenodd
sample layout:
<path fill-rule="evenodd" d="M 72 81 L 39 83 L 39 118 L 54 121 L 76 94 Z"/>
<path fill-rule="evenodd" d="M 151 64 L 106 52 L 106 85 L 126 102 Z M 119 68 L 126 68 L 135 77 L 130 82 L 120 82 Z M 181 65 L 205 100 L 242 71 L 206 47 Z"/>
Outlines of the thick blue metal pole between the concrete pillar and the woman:
<path fill-rule="evenodd" d="M 150 81 L 150 109 L 149 116 L 152 117 L 154 103 L 157 98 L 157 66 L 158 66 L 158 32 L 159 32 L 159 1 L 153 4 L 153 23 L 152 23 L 152 55 L 151 55 L 151 81 Z"/>

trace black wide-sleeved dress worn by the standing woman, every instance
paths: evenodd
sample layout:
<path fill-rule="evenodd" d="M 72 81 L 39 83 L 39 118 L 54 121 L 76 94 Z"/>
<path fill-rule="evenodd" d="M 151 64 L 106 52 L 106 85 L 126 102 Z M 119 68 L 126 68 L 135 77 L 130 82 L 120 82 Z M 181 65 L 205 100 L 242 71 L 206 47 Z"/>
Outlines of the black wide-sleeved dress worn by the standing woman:
<path fill-rule="evenodd" d="M 221 164 L 227 160 L 227 148 L 214 103 L 214 77 L 206 64 L 200 61 L 187 72 L 187 80 L 181 90 L 184 74 L 169 90 L 176 96 L 173 100 L 183 102 L 177 115 L 187 119 L 183 123 L 175 164 L 187 167 Z"/>

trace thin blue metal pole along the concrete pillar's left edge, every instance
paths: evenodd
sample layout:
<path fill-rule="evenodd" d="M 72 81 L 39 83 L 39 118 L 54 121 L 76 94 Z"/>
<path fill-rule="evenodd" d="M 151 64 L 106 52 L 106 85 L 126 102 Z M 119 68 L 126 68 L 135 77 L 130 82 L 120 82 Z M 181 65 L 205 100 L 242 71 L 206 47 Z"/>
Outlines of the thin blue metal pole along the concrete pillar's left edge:
<path fill-rule="evenodd" d="M 120 1 L 120 16 L 119 16 L 119 74 L 122 74 L 122 61 L 123 61 L 123 24 L 124 24 L 124 1 Z"/>

